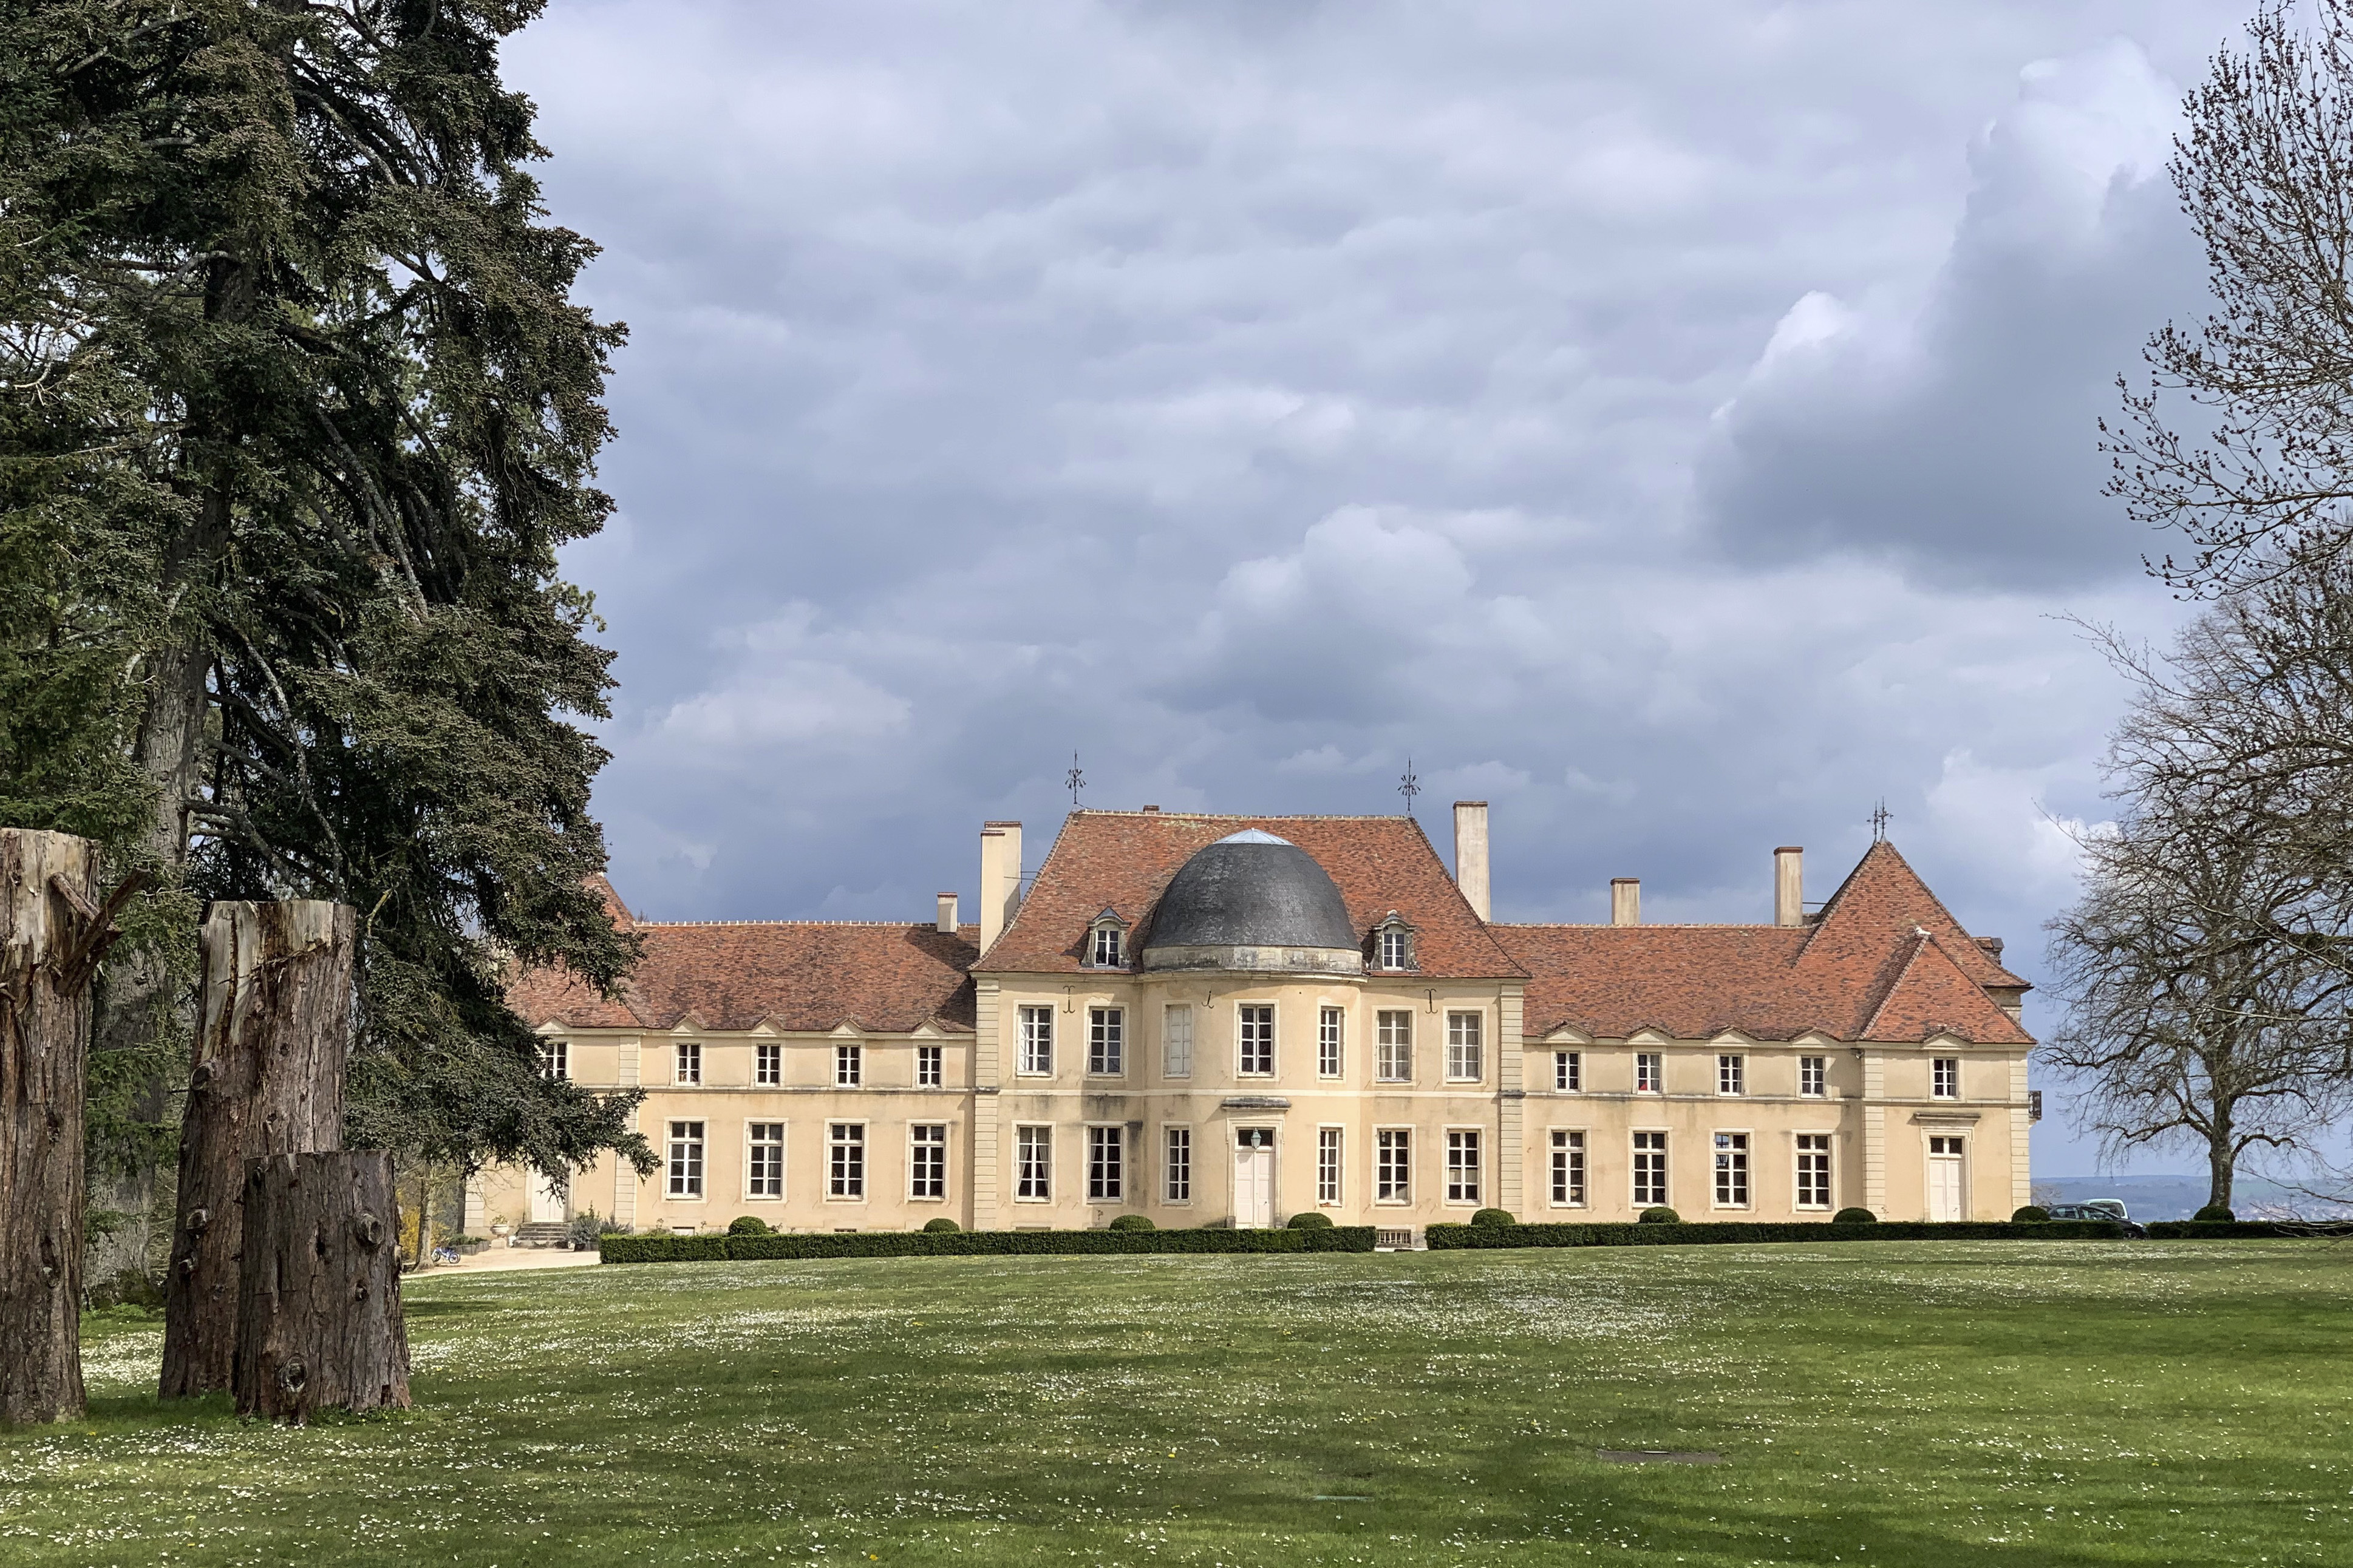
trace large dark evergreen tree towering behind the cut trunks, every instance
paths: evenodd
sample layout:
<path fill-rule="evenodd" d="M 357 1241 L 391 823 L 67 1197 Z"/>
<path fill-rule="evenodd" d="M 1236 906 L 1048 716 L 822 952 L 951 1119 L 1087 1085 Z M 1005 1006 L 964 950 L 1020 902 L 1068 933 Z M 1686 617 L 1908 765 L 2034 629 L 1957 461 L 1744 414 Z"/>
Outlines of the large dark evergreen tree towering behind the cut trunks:
<path fill-rule="evenodd" d="M 501 997 L 631 959 L 588 889 L 609 654 L 555 571 L 609 510 L 621 329 L 569 299 L 593 244 L 499 82 L 536 12 L 0 0 L 0 684 L 52 715 L 0 719 L 0 811 L 80 813 L 181 933 L 195 898 L 358 905 L 353 1140 L 560 1171 L 645 1147 Z M 179 952 L 111 964 L 101 1056 L 162 1056 Z M 129 1098 L 158 1126 L 165 1086 Z"/>

